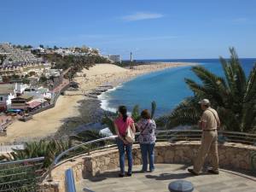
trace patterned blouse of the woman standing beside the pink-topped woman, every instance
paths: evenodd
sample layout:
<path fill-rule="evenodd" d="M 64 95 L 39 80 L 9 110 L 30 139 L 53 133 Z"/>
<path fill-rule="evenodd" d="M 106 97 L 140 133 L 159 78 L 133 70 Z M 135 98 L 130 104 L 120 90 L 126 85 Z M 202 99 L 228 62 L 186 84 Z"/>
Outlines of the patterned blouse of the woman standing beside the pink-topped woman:
<path fill-rule="evenodd" d="M 153 144 L 155 143 L 155 135 L 154 131 L 156 129 L 156 125 L 153 119 L 141 119 L 137 123 L 138 130 L 140 131 L 140 135 L 138 137 L 138 142 L 143 144 Z"/>

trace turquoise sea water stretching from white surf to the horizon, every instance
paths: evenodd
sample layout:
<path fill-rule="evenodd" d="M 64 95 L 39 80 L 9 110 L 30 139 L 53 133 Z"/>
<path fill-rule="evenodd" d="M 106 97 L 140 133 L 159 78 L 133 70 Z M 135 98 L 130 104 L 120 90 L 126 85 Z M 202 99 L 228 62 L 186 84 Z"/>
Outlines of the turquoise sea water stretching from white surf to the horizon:
<path fill-rule="evenodd" d="M 210 60 L 158 60 L 158 61 L 179 61 L 196 62 L 207 67 L 212 73 L 224 76 L 222 67 L 217 59 Z M 256 59 L 241 59 L 242 67 L 248 74 L 253 68 Z M 183 98 L 193 96 L 193 93 L 184 83 L 184 78 L 198 81 L 191 67 L 176 67 L 164 71 L 149 73 L 125 84 L 108 90 L 99 99 L 102 101 L 102 108 L 109 111 L 116 111 L 119 105 L 125 105 L 129 111 L 136 104 L 141 109 L 150 108 L 151 102 L 157 104 L 156 116 L 172 111 Z"/>

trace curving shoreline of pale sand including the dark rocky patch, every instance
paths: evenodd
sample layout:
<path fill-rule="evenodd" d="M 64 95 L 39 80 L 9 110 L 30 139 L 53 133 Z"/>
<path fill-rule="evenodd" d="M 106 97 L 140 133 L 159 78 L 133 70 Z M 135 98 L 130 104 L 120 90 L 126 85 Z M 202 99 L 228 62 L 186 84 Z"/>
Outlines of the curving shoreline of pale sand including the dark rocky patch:
<path fill-rule="evenodd" d="M 74 79 L 79 83 L 79 90 L 67 90 L 65 96 L 60 96 L 55 108 L 34 115 L 32 120 L 26 123 L 16 121 L 10 125 L 7 137 L 0 137 L 0 143 L 22 143 L 44 137 L 55 137 L 59 133 L 65 135 L 73 131 L 75 126 L 88 124 L 95 119 L 98 122 L 104 114 L 101 101 L 98 98 L 91 99 L 84 96 L 86 93 L 106 84 L 116 87 L 143 74 L 193 65 L 195 63 L 170 62 L 123 68 L 112 64 L 96 64 L 89 70 L 83 69 Z M 88 105 L 90 108 L 87 107 Z"/>

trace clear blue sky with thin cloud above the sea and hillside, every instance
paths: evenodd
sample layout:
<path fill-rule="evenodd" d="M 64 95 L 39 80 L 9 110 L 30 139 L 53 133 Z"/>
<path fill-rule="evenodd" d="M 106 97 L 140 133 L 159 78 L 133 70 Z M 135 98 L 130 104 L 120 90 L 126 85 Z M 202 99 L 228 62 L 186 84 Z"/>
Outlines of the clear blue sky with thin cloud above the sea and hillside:
<path fill-rule="evenodd" d="M 128 59 L 256 57 L 255 0 L 1 0 L 0 42 Z"/>

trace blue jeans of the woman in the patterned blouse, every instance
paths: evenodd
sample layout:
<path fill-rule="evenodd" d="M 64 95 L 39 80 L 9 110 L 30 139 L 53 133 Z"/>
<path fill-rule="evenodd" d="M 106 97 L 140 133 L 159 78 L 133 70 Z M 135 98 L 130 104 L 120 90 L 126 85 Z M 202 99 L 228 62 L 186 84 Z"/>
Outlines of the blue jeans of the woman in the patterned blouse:
<path fill-rule="evenodd" d="M 143 172 L 148 170 L 149 160 L 149 171 L 154 171 L 154 143 L 152 144 L 140 144 L 143 158 Z"/>

